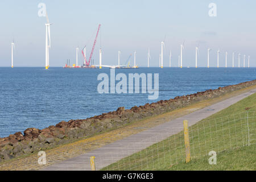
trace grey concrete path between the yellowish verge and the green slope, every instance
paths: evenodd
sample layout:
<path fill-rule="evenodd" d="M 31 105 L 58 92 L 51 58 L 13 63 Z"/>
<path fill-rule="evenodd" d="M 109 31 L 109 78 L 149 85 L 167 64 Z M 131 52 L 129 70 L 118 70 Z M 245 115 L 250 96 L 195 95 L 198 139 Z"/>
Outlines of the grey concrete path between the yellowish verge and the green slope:
<path fill-rule="evenodd" d="M 189 126 L 194 125 L 202 119 L 235 104 L 253 93 L 256 93 L 256 89 L 218 102 L 217 104 L 197 110 L 191 114 L 184 115 L 183 117 L 176 118 L 156 127 L 152 127 L 151 129 L 142 131 L 141 133 L 117 140 L 116 142 L 107 144 L 106 146 L 97 148 L 96 150 L 89 151 L 88 153 L 77 156 L 76 158 L 67 159 L 63 162 L 53 164 L 52 166 L 43 168 L 42 170 L 90 170 L 90 156 L 95 156 L 96 169 L 101 169 L 122 158 L 130 156 L 135 152 L 139 152 L 156 142 L 160 142 L 171 135 L 179 133 L 183 130 L 184 119 L 188 120 Z"/>

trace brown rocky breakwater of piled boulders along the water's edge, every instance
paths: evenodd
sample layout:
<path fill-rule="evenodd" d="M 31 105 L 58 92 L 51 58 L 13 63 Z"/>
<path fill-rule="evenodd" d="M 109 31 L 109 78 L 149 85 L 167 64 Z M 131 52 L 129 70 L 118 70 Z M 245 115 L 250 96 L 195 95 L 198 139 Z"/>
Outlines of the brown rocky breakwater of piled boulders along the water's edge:
<path fill-rule="evenodd" d="M 175 97 L 170 100 L 161 100 L 144 106 L 134 106 L 131 109 L 119 107 L 116 111 L 97 115 L 87 119 L 61 121 L 55 126 L 39 130 L 28 128 L 24 134 L 17 132 L 9 137 L 0 138 L 0 162 L 10 160 L 17 156 L 31 154 L 40 150 L 55 147 L 59 144 L 72 142 L 72 140 L 89 137 L 102 131 L 115 129 L 127 123 L 163 114 L 181 107 L 222 96 L 233 90 L 239 90 L 256 85 L 256 80 L 229 85 L 205 92 L 197 92 L 187 96 Z"/>

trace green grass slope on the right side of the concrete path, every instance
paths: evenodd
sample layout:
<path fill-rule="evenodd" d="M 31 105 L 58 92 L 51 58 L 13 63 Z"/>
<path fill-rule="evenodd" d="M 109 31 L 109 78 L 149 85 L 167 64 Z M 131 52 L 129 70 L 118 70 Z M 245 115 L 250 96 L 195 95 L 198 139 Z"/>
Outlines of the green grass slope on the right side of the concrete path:
<path fill-rule="evenodd" d="M 182 131 L 102 170 L 255 170 L 255 110 L 253 94 L 189 127 L 187 164 Z M 209 151 L 217 152 L 217 165 L 208 163 Z"/>

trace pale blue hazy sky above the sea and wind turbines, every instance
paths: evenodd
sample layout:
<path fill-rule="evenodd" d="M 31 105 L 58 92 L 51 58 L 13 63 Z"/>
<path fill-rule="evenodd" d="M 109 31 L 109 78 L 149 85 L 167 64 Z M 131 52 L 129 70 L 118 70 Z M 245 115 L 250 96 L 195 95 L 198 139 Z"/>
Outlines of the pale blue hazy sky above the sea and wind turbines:
<path fill-rule="evenodd" d="M 63 67 L 67 59 L 82 64 L 81 49 L 86 46 L 89 57 L 98 24 L 100 34 L 94 49 L 94 63 L 98 64 L 102 48 L 102 64 L 117 65 L 118 51 L 121 64 L 130 53 L 137 52 L 139 67 L 147 65 L 150 49 L 150 66 L 159 66 L 160 44 L 164 40 L 164 67 L 177 67 L 180 45 L 184 43 L 183 65 L 195 67 L 195 47 L 199 45 L 199 67 L 207 66 L 207 49 L 210 67 L 216 67 L 220 49 L 220 67 L 235 66 L 238 53 L 250 55 L 250 66 L 256 67 L 256 1 L 237 0 L 109 0 L 109 1 L 57 1 L 57 0 L 1 0 L 0 67 L 11 65 L 11 42 L 14 40 L 14 67 L 45 66 L 46 17 L 38 16 L 39 3 L 46 4 L 51 25 L 50 67 Z M 217 14 L 209 16 L 210 3 L 216 4 Z M 133 63 L 133 59 L 130 60 Z"/>

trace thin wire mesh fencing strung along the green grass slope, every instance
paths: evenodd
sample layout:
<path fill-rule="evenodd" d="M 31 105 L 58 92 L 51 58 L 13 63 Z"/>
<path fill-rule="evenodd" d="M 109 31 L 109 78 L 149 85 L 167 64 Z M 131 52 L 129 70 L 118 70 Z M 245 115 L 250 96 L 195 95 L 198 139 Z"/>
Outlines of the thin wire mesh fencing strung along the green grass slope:
<path fill-rule="evenodd" d="M 189 123 L 189 121 L 188 121 Z M 255 111 L 245 111 L 217 119 L 203 120 L 189 127 L 191 160 L 206 156 L 210 151 L 221 152 L 250 146 L 256 143 Z M 160 141 L 160 142 L 159 142 Z M 155 144 L 147 147 L 148 142 Z M 143 139 L 144 148 L 135 152 L 138 146 L 123 149 L 118 158 L 127 151 L 133 155 L 103 168 L 104 170 L 161 170 L 174 164 L 185 162 L 184 133 L 181 131 L 171 137 L 150 137 Z M 126 155 L 127 156 L 127 155 Z M 103 158 L 100 160 L 104 160 Z"/>

